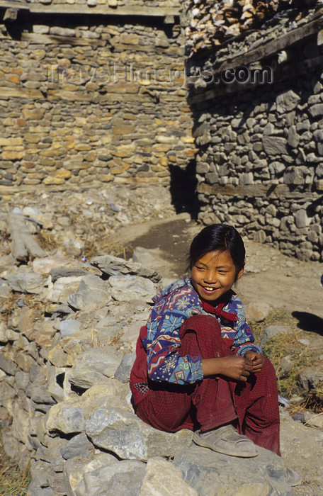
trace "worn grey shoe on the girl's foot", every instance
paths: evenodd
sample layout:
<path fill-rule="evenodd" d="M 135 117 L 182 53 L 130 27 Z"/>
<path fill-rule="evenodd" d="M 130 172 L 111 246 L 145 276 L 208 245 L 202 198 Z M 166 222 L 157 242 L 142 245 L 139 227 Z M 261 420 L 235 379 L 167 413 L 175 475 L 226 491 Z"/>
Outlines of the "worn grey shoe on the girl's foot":
<path fill-rule="evenodd" d="M 239 434 L 232 424 L 222 425 L 208 432 L 196 431 L 193 435 L 193 441 L 198 446 L 210 448 L 212 451 L 229 456 L 251 458 L 258 455 L 256 446 L 251 439 Z"/>

